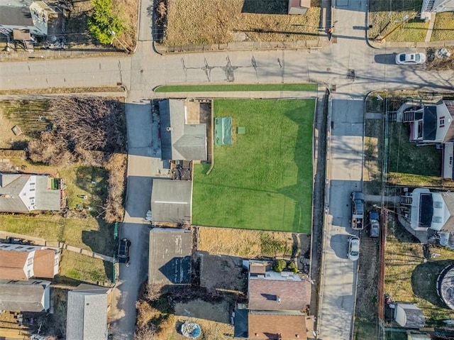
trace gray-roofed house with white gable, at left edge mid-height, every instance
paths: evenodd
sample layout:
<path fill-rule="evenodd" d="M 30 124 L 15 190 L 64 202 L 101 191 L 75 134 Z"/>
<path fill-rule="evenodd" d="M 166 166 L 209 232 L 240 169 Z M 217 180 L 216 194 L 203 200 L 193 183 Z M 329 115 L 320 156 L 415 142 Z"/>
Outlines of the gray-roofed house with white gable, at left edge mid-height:
<path fill-rule="evenodd" d="M 59 180 L 47 175 L 0 173 L 0 212 L 59 211 L 62 205 Z"/>

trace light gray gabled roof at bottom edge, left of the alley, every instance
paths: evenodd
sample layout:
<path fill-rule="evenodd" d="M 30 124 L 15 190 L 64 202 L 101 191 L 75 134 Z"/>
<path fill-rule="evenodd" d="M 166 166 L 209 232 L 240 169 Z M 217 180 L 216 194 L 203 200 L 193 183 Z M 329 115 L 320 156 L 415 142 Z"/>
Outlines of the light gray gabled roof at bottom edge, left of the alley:
<path fill-rule="evenodd" d="M 78 285 L 68 292 L 66 339 L 106 339 L 109 288 Z"/>

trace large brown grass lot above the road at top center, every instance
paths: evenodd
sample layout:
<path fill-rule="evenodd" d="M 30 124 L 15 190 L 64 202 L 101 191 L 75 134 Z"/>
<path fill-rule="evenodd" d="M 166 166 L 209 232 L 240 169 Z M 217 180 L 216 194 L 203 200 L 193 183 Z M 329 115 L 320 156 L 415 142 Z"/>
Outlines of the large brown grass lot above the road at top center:
<path fill-rule="evenodd" d="M 312 1 L 311 9 L 303 16 L 287 13 L 287 1 L 273 14 L 263 14 L 265 1 L 255 1 L 256 13 L 245 13 L 243 6 L 251 1 L 230 0 L 172 0 L 167 6 L 165 45 L 201 45 L 230 43 L 233 33 L 244 32 L 247 40 L 296 41 L 318 37 L 320 1 Z M 270 1 L 267 1 L 270 2 Z M 282 7 L 282 8 L 280 8 Z M 251 11 L 251 9 L 249 9 Z"/>

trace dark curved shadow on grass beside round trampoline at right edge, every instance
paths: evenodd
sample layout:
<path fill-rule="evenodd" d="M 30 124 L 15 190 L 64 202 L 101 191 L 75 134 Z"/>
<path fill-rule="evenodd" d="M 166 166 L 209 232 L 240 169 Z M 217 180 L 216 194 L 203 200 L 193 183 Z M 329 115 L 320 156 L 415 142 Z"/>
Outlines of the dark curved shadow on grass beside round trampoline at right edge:
<path fill-rule="evenodd" d="M 423 300 L 431 302 L 432 305 L 447 308 L 440 297 L 438 297 L 436 282 L 443 268 L 453 263 L 454 260 L 442 260 L 428 261 L 417 265 L 411 274 L 411 287 L 413 287 L 414 294 Z"/>

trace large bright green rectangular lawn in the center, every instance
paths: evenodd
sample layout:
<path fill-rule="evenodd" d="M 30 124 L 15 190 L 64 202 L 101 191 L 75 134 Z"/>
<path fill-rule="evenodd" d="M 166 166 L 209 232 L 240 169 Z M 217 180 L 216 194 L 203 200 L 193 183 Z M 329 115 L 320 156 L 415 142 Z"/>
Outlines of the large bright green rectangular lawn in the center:
<path fill-rule="evenodd" d="M 232 116 L 232 146 L 215 146 L 214 169 L 194 167 L 193 224 L 311 232 L 314 100 L 216 100 Z"/>

